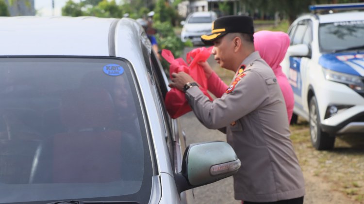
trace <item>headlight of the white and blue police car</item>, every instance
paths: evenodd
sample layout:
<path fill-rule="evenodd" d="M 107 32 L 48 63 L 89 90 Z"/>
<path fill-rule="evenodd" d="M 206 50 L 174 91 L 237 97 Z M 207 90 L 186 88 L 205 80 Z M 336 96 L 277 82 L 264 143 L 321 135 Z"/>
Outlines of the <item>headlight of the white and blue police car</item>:
<path fill-rule="evenodd" d="M 357 92 L 364 92 L 364 83 L 362 77 L 335 72 L 329 69 L 323 69 L 327 80 L 336 81 L 348 85 Z"/>

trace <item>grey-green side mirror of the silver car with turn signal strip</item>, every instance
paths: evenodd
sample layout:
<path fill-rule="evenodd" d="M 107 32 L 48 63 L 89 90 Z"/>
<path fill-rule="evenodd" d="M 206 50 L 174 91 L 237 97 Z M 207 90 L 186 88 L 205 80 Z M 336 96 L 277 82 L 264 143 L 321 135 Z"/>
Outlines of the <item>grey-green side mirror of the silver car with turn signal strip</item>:
<path fill-rule="evenodd" d="M 175 174 L 178 191 L 181 193 L 229 177 L 240 166 L 234 150 L 224 141 L 190 144 L 183 155 L 182 171 Z"/>

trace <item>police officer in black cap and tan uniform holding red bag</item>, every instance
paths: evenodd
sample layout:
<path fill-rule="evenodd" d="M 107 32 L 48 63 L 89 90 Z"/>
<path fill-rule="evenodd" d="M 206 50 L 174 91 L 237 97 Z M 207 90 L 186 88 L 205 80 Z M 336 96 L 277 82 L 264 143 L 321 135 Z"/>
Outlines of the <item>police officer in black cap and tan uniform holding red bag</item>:
<path fill-rule="evenodd" d="M 170 87 L 186 94 L 199 121 L 227 134 L 242 166 L 234 177 L 236 200 L 245 204 L 302 204 L 303 174 L 289 139 L 283 95 L 267 63 L 254 50 L 253 20 L 224 16 L 202 35 L 221 67 L 232 70 L 232 83 L 220 98 L 210 101 L 184 72 L 173 73 Z"/>

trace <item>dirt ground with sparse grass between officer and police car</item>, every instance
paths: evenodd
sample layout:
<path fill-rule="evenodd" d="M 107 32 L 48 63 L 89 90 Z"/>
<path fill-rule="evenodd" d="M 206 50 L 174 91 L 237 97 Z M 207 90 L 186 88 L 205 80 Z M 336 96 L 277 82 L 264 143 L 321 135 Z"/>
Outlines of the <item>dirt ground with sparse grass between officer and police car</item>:
<path fill-rule="evenodd" d="M 290 129 L 306 182 L 305 204 L 364 204 L 364 138 L 340 136 L 333 150 L 317 151 L 306 121 Z"/>

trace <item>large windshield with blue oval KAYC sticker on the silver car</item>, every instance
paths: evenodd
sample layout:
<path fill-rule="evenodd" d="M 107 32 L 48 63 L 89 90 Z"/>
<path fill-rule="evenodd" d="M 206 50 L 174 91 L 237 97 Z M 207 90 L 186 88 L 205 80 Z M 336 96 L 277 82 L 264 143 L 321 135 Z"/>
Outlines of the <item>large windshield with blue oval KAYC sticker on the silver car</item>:
<path fill-rule="evenodd" d="M 0 203 L 148 203 L 135 84 L 115 58 L 0 58 Z"/>

